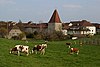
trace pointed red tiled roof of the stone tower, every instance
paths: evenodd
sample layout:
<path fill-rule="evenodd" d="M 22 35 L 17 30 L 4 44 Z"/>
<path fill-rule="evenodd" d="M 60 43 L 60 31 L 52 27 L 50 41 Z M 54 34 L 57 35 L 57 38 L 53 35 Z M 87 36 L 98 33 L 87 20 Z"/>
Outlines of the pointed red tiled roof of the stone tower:
<path fill-rule="evenodd" d="M 54 10 L 52 17 L 49 20 L 49 23 L 61 23 L 59 14 L 56 9 Z"/>

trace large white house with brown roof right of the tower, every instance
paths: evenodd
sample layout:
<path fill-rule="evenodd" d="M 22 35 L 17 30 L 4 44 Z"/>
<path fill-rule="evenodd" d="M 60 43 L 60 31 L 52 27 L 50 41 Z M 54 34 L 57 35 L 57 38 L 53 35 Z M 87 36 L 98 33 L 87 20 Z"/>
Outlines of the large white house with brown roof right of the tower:
<path fill-rule="evenodd" d="M 74 35 L 96 34 L 96 27 L 92 23 L 86 20 L 71 21 L 70 23 L 72 25 L 70 25 L 68 29 L 68 32 L 67 32 L 68 34 L 74 34 Z"/>

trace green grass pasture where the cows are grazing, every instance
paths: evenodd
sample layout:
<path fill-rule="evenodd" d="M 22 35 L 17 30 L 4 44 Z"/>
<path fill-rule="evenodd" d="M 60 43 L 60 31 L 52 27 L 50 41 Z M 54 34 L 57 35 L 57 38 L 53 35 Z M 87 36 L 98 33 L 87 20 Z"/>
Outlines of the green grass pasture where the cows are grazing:
<path fill-rule="evenodd" d="M 29 45 L 32 49 L 34 45 L 44 43 L 44 41 L 30 40 L 26 44 L 24 41 L 0 38 L 0 67 L 100 67 L 100 45 L 73 44 L 72 47 L 79 48 L 80 53 L 70 55 L 65 45 L 69 41 L 73 42 L 72 40 L 48 42 L 45 55 L 26 56 L 21 53 L 21 56 L 17 56 L 9 54 L 9 49 L 16 44 Z"/>

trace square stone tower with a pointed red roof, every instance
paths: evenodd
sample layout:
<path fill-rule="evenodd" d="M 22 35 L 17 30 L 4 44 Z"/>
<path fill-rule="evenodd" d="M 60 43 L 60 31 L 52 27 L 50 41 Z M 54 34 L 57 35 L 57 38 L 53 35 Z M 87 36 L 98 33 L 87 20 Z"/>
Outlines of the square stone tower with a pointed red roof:
<path fill-rule="evenodd" d="M 48 32 L 61 31 L 61 30 L 62 30 L 62 22 L 60 20 L 57 10 L 55 9 L 48 22 Z"/>

